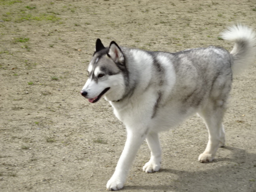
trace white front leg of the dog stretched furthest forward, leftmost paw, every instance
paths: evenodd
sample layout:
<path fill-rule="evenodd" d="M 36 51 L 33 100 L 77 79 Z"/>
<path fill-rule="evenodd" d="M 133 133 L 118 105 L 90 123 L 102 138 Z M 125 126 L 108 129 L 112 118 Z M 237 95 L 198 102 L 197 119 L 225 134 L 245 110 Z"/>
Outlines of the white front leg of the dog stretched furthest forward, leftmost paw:
<path fill-rule="evenodd" d="M 107 190 L 118 190 L 123 188 L 129 168 L 145 138 L 146 134 L 128 131 L 124 150 L 118 160 L 114 174 L 110 180 L 108 180 Z"/>

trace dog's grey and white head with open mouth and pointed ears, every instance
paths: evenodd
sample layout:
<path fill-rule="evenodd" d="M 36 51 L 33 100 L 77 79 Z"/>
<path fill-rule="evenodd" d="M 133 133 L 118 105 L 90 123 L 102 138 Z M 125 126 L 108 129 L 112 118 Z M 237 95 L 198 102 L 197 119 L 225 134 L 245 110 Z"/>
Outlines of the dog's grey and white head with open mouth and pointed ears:
<path fill-rule="evenodd" d="M 108 101 L 122 98 L 125 88 L 125 58 L 122 50 L 112 41 L 108 48 L 100 39 L 96 41 L 96 51 L 88 66 L 89 78 L 81 94 L 89 102 L 95 103 L 102 96 Z"/>

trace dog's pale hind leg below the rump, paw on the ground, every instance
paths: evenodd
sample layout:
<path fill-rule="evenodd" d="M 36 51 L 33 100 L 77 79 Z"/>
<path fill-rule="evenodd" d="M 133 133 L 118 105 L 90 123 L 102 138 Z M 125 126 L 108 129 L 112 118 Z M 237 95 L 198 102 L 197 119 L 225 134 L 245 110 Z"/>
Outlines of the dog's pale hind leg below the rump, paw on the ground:
<path fill-rule="evenodd" d="M 198 112 L 206 123 L 209 133 L 206 149 L 198 158 L 201 163 L 211 162 L 214 159 L 218 147 L 224 146 L 225 132 L 222 125 L 225 112 L 224 106 L 224 101 L 210 101 L 206 107 Z"/>

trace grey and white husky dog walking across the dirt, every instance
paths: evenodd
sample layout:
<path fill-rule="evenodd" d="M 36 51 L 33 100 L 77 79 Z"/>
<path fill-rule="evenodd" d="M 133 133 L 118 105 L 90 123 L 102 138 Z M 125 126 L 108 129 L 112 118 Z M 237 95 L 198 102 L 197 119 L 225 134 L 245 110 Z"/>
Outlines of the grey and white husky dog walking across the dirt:
<path fill-rule="evenodd" d="M 232 76 L 254 61 L 256 34 L 240 24 L 223 33 L 235 43 L 233 50 L 210 46 L 176 53 L 149 52 L 96 41 L 89 64 L 89 78 L 81 94 L 91 103 L 102 96 L 124 123 L 127 140 L 107 190 L 123 188 L 129 167 L 146 139 L 151 151 L 145 172 L 161 166 L 158 132 L 174 128 L 197 113 L 209 132 L 200 162 L 211 162 L 224 146 L 222 125 Z"/>

